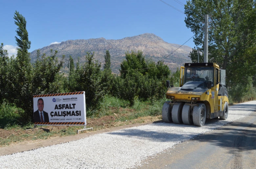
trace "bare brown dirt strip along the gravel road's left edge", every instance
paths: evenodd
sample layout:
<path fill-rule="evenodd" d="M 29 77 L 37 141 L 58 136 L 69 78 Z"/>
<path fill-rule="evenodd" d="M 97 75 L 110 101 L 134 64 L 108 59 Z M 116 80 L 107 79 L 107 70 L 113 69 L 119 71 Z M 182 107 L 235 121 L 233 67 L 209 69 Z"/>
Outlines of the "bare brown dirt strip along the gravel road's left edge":
<path fill-rule="evenodd" d="M 139 125 L 145 125 L 148 123 L 153 123 L 155 121 L 159 121 L 159 117 L 141 117 L 139 119 L 136 119 L 132 122 L 124 123 L 124 122 L 114 122 L 115 117 L 114 116 L 104 116 L 99 119 L 88 119 L 87 120 L 87 126 L 100 126 L 99 129 L 94 129 L 93 130 L 84 130 L 80 131 L 79 134 L 72 135 L 72 136 L 64 136 L 64 137 L 50 137 L 47 139 L 37 139 L 37 140 L 26 140 L 17 143 L 13 143 L 7 146 L 2 146 L 0 147 L 0 156 L 2 155 L 8 155 L 8 154 L 13 154 L 17 152 L 23 152 L 23 151 L 29 151 L 33 149 L 37 149 L 40 147 L 46 147 L 54 144 L 62 144 L 62 143 L 67 143 L 70 141 L 75 141 L 84 137 L 89 137 L 95 134 L 99 133 L 104 133 L 104 132 L 111 132 L 115 130 L 121 130 L 124 128 L 129 128 L 129 127 L 134 127 L 134 126 L 139 126 Z M 141 123 L 143 121 L 143 123 Z M 38 130 L 41 130 L 41 132 L 51 132 L 54 130 L 65 130 L 67 126 L 42 126 L 40 128 L 35 128 L 35 129 L 29 129 L 29 130 L 4 130 L 0 129 L 0 138 L 6 138 L 10 137 L 11 135 L 17 135 L 17 137 L 24 135 L 24 134 L 33 134 L 36 132 L 40 132 Z M 87 127 L 88 128 L 88 127 Z M 81 127 L 82 129 L 82 127 Z"/>

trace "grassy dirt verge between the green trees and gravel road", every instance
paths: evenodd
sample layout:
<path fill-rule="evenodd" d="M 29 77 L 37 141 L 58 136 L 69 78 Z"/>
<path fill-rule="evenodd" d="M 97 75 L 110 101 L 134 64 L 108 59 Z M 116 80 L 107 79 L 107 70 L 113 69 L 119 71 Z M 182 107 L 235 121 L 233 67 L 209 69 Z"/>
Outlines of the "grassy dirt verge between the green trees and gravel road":
<path fill-rule="evenodd" d="M 86 112 L 86 127 L 92 127 L 95 131 L 129 124 L 158 121 L 162 119 L 161 109 L 163 102 L 165 102 L 165 99 L 144 102 L 137 99 L 133 106 L 129 106 L 129 102 L 123 99 L 106 95 L 100 103 L 100 109 Z M 20 117 L 16 116 L 17 113 L 15 112 L 18 109 L 15 106 L 6 105 L 6 103 L 2 104 L 2 106 L 4 108 L 0 108 L 0 116 L 5 114 L 8 117 L 2 118 L 2 120 L 7 121 L 1 121 L 1 124 L 5 124 L 5 126 L 0 129 L 0 147 L 29 140 L 76 135 L 77 130 L 83 128 L 83 126 L 36 126 L 34 128 L 34 123 L 32 122 L 19 123 Z M 16 123 L 13 123 L 13 121 Z M 81 132 L 91 132 L 91 130 Z"/>

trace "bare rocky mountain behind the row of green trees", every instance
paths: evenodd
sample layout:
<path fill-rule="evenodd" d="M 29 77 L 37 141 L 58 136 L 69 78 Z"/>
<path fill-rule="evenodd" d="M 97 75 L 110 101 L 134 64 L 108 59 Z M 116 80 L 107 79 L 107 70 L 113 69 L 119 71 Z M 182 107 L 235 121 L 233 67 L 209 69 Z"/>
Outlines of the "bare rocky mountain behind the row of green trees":
<path fill-rule="evenodd" d="M 167 64 L 172 71 L 176 71 L 177 67 L 184 65 L 186 62 L 191 62 L 188 55 L 192 51 L 192 48 L 189 46 L 181 46 L 177 49 L 178 47 L 180 47 L 180 45 L 167 43 L 155 34 L 145 33 L 118 40 L 107 40 L 104 38 L 67 40 L 59 44 L 45 46 L 39 50 L 41 53 L 45 53 L 46 56 L 50 55 L 51 49 L 53 51 L 57 50 L 57 56 L 61 57 L 65 55 L 67 60 L 69 55 L 71 55 L 75 65 L 78 57 L 80 63 L 83 63 L 85 61 L 86 52 L 91 51 L 94 51 L 94 59 L 104 65 L 104 55 L 106 50 L 108 50 L 111 56 L 112 72 L 119 73 L 120 64 L 125 59 L 125 52 L 138 52 L 138 50 L 143 52 L 146 59 L 152 59 L 155 62 L 164 60 L 164 64 Z M 35 62 L 36 50 L 31 52 L 30 56 L 31 61 Z M 67 68 L 68 65 L 66 64 L 66 69 Z"/>

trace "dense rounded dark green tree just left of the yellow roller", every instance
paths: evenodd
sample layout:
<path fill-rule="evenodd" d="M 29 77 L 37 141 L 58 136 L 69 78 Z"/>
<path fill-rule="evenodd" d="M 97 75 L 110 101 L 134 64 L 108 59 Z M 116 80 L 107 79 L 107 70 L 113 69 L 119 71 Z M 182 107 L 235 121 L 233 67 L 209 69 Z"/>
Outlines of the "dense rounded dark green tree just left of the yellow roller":
<path fill-rule="evenodd" d="M 170 75 L 167 65 L 163 61 L 155 64 L 145 60 L 141 51 L 125 54 L 126 60 L 121 63 L 120 78 L 115 78 L 113 94 L 128 100 L 131 105 L 136 98 L 162 97 L 166 92 L 165 81 Z"/>

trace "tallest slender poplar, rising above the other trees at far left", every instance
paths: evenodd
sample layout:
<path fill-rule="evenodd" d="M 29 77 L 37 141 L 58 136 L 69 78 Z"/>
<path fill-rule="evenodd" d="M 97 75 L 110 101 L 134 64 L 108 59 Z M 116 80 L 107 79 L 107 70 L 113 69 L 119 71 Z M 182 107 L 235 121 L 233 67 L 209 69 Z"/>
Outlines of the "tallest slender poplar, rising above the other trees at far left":
<path fill-rule="evenodd" d="M 17 48 L 16 64 L 13 67 L 15 74 L 15 81 L 10 94 L 13 102 L 18 107 L 21 107 L 27 113 L 26 117 L 29 119 L 32 115 L 33 94 L 31 90 L 32 81 L 32 65 L 30 63 L 30 48 L 31 42 L 28 40 L 28 31 L 26 29 L 27 21 L 18 11 L 14 13 L 14 23 L 18 26 L 15 36 Z"/>

